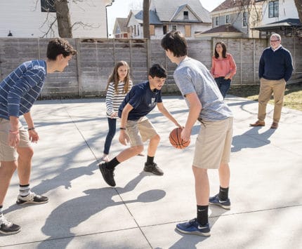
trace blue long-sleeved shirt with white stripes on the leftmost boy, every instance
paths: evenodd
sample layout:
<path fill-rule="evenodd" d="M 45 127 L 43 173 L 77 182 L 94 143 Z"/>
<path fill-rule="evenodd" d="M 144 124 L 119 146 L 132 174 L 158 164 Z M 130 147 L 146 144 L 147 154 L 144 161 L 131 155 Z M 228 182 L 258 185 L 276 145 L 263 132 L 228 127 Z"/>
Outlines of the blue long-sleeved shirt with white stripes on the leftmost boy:
<path fill-rule="evenodd" d="M 44 60 L 31 60 L 8 74 L 0 83 L 0 118 L 29 112 L 44 86 L 46 72 Z"/>

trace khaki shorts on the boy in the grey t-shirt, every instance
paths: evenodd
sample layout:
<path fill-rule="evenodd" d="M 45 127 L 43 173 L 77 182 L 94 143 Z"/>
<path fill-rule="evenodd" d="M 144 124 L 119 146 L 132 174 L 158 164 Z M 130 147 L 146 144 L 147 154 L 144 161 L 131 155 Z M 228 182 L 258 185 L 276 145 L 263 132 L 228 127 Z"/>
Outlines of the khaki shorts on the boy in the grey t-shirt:
<path fill-rule="evenodd" d="M 232 123 L 232 117 L 215 122 L 202 121 L 195 143 L 193 166 L 216 169 L 221 163 L 229 163 Z"/>

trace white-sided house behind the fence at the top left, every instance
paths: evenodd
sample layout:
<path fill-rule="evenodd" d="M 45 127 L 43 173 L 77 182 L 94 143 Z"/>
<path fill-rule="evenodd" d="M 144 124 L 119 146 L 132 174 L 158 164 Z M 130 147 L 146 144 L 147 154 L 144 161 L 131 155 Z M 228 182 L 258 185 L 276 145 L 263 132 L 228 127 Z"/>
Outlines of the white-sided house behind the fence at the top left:
<path fill-rule="evenodd" d="M 1 0 L 0 37 L 55 37 L 58 36 L 55 20 L 55 0 Z M 69 1 L 72 36 L 107 37 L 107 11 L 114 0 Z M 48 10 L 48 11 L 47 11 Z M 82 25 L 80 25 L 80 23 Z M 46 34 L 48 32 L 48 34 Z"/>

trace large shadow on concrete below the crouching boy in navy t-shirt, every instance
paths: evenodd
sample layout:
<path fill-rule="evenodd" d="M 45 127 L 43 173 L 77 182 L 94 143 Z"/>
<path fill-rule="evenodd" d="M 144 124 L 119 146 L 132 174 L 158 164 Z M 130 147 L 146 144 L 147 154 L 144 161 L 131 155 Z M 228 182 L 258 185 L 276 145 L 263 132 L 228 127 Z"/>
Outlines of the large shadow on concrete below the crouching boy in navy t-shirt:
<path fill-rule="evenodd" d="M 70 201 L 66 201 L 62 205 L 55 208 L 51 215 L 46 219 L 42 231 L 47 236 L 50 236 L 46 240 L 42 241 L 38 248 L 48 248 L 49 241 L 60 239 L 62 248 L 67 248 L 67 245 L 76 236 L 72 233 L 72 228 L 77 227 L 79 224 L 87 220 L 89 217 L 96 215 L 96 213 L 110 208 L 112 206 L 125 205 L 127 203 L 148 203 L 153 201 L 159 201 L 164 198 L 166 192 L 162 189 L 152 189 L 141 193 L 138 198 L 130 201 L 123 201 L 120 194 L 132 191 L 137 184 L 147 176 L 147 173 L 140 173 L 137 177 L 131 180 L 124 188 L 103 188 L 103 189 L 87 189 L 84 191 L 85 196 L 73 198 Z M 100 176 L 101 177 L 101 176 Z M 121 201 L 113 201 L 113 196 L 119 196 Z M 88 205 L 87 205 L 88 204 Z M 103 231 L 101 231 L 103 230 Z M 101 229 L 100 232 L 106 231 Z M 91 233 L 89 229 L 86 234 Z M 85 234 L 81 234 L 85 235 Z"/>

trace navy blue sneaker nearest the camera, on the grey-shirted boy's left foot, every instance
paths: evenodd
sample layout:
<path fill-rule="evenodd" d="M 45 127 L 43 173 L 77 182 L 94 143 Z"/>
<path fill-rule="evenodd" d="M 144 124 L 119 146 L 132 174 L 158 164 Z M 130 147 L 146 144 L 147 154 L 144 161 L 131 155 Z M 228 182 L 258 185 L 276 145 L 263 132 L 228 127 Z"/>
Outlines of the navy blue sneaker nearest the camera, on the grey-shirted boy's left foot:
<path fill-rule="evenodd" d="M 176 229 L 183 234 L 195 234 L 199 236 L 210 236 L 211 229 L 209 223 L 204 226 L 197 222 L 197 219 L 189 220 L 185 223 L 179 223 L 176 225 Z"/>

